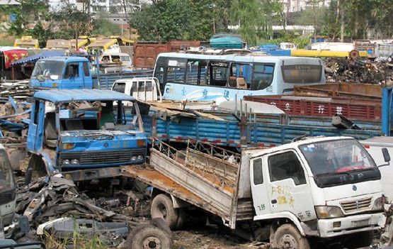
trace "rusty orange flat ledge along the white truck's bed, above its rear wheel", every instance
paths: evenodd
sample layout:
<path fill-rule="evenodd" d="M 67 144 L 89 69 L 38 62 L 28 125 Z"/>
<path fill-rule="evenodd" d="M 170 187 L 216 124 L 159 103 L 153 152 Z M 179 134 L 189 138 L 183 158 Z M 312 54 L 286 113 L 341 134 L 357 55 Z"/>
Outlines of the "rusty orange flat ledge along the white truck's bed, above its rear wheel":
<path fill-rule="evenodd" d="M 174 197 L 187 201 L 190 204 L 210 211 L 212 214 L 220 215 L 220 211 L 211 206 L 207 201 L 204 201 L 200 197 L 188 191 L 181 185 L 173 182 L 171 179 L 166 177 L 164 174 L 154 170 L 148 165 L 127 165 L 120 167 L 121 175 L 125 177 L 132 177 L 138 179 L 141 182 L 152 185 L 156 189 L 161 189 L 164 192 L 172 194 Z"/>

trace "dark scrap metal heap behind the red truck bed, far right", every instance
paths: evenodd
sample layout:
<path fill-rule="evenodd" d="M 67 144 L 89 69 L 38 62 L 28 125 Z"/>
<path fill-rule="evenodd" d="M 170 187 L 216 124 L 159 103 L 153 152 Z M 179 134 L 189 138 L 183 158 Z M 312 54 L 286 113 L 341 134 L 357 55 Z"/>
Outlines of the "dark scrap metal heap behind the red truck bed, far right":
<path fill-rule="evenodd" d="M 392 62 L 365 62 L 352 58 L 331 57 L 324 60 L 327 82 L 358 82 L 392 86 Z"/>

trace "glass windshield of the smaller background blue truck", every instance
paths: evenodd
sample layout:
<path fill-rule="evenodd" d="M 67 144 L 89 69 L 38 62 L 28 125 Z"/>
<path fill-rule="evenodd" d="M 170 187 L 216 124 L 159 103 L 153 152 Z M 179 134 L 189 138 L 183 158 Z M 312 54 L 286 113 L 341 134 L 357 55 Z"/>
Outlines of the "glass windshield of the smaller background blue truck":
<path fill-rule="evenodd" d="M 45 79 L 52 76 L 60 79 L 64 70 L 64 62 L 54 60 L 42 60 L 35 63 L 33 73 L 31 74 L 32 79 Z"/>

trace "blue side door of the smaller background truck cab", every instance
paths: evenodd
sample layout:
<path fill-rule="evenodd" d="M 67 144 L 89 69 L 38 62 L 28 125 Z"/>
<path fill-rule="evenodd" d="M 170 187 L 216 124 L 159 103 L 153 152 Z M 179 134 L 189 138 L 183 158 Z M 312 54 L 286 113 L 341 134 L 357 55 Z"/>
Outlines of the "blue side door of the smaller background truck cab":
<path fill-rule="evenodd" d="M 70 62 L 64 70 L 62 89 L 84 89 L 83 69 L 79 68 L 79 62 Z"/>

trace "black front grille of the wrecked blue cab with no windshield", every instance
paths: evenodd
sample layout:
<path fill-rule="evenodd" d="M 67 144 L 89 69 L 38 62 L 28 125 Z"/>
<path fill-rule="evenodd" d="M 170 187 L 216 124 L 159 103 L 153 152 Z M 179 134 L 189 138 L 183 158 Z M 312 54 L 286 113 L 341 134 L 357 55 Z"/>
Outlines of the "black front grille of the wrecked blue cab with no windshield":
<path fill-rule="evenodd" d="M 132 156 L 146 155 L 146 149 L 120 150 L 120 151 L 89 151 L 83 153 L 60 153 L 59 164 L 64 160 L 79 160 L 79 165 L 101 165 L 105 163 L 130 162 Z"/>

